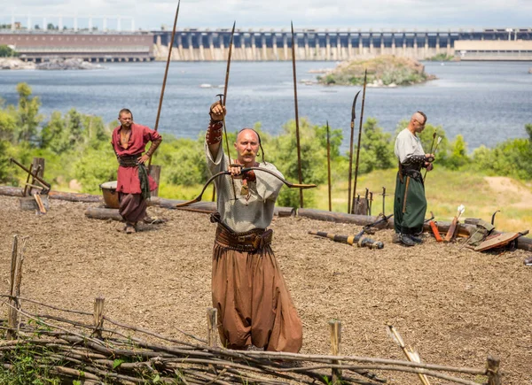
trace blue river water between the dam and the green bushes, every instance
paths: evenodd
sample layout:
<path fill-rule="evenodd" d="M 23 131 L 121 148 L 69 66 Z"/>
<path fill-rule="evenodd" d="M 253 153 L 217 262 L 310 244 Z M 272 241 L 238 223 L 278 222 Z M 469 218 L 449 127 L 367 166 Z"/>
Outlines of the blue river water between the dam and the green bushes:
<path fill-rule="evenodd" d="M 313 80 L 312 69 L 331 62 L 300 62 L 297 79 Z M 364 118 L 394 133 L 397 123 L 412 112 L 426 112 L 428 122 L 442 126 L 450 138 L 464 135 L 468 149 L 515 137 L 526 137 L 532 123 L 530 62 L 427 62 L 426 72 L 437 80 L 396 89 L 366 89 Z M 122 107 L 138 123 L 153 127 L 157 116 L 165 63 L 106 64 L 95 71 L 0 71 L 0 96 L 17 103 L 16 85 L 26 81 L 43 102 L 41 112 L 79 112 L 115 120 Z M 159 129 L 176 137 L 195 138 L 207 127 L 208 107 L 223 92 L 225 63 L 170 64 Z M 236 131 L 260 121 L 271 134 L 294 118 L 291 62 L 233 62 L 227 96 L 227 127 Z M 200 88 L 210 84 L 213 88 Z M 313 124 L 344 130 L 348 148 L 351 104 L 356 87 L 325 87 L 298 83 L 299 114 Z M 361 94 L 362 96 L 362 94 Z M 358 109 L 361 105 L 359 97 Z M 357 115 L 359 116 L 359 110 Z M 357 118 L 358 120 L 358 118 Z M 356 126 L 357 127 L 357 126 Z"/>

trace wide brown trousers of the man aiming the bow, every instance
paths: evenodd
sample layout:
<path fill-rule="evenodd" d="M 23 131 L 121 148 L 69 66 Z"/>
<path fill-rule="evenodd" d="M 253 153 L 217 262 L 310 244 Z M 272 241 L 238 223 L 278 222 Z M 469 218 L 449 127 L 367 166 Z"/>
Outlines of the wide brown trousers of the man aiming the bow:
<path fill-rule="evenodd" d="M 215 244 L 213 306 L 224 346 L 297 353 L 302 325 L 270 245 L 240 252 Z"/>

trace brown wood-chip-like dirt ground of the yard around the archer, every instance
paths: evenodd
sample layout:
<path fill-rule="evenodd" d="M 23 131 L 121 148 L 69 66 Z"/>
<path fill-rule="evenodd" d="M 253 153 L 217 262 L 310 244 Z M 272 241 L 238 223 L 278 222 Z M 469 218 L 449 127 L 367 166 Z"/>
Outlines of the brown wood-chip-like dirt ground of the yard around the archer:
<path fill-rule="evenodd" d="M 89 205 L 52 200 L 50 212 L 38 216 L 21 212 L 18 198 L 0 196 L 0 293 L 8 291 L 12 236 L 28 235 L 22 296 L 86 312 L 105 296 L 115 320 L 206 338 L 215 234 L 207 215 L 151 207 L 168 222 L 126 235 L 116 221 L 87 219 Z M 386 333 L 390 322 L 424 362 L 483 367 L 493 355 L 505 385 L 532 384 L 529 252 L 477 253 L 433 238 L 404 248 L 390 242 L 390 230 L 372 235 L 383 250 L 357 249 L 307 232 L 348 235 L 360 227 L 301 218 L 276 218 L 271 227 L 303 322 L 302 353 L 329 353 L 327 322 L 337 319 L 343 354 L 403 359 Z M 386 377 L 419 383 L 411 375 Z"/>

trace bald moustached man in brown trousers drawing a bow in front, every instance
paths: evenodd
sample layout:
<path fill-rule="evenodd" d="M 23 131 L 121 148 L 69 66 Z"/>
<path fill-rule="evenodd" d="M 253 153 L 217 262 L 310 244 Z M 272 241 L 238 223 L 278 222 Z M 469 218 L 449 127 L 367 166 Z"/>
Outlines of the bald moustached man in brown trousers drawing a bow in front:
<path fill-rule="evenodd" d="M 218 309 L 218 330 L 225 347 L 297 353 L 302 345 L 302 324 L 293 305 L 270 243 L 273 209 L 283 182 L 278 169 L 255 161 L 261 138 L 252 128 L 237 135 L 237 158 L 223 152 L 222 120 L 225 107 L 211 106 L 205 153 L 215 179 L 218 223 L 213 250 L 213 306 Z M 262 150 L 263 155 L 264 150 Z M 242 173 L 243 168 L 259 167 Z M 266 172 L 260 171 L 266 170 Z M 270 173 L 268 173 L 270 172 Z"/>

